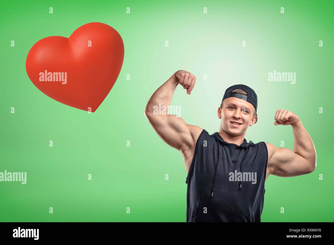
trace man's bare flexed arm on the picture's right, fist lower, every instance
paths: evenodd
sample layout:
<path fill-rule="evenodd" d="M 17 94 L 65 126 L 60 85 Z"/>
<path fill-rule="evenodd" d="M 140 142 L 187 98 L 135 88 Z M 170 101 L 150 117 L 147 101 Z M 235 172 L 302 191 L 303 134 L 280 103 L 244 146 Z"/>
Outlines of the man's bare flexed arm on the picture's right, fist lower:
<path fill-rule="evenodd" d="M 279 148 L 266 142 L 270 174 L 280 177 L 293 177 L 313 172 L 317 166 L 317 153 L 313 141 L 299 117 L 284 109 L 277 110 L 275 125 L 291 125 L 295 138 L 293 151 Z"/>

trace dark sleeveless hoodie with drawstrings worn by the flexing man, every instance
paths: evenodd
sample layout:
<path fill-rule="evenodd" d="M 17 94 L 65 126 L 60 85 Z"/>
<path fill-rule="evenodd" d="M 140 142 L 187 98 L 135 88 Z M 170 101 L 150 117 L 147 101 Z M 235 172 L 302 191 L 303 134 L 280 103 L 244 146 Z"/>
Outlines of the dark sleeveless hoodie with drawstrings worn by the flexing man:
<path fill-rule="evenodd" d="M 186 178 L 186 222 L 261 222 L 268 149 L 203 129 Z"/>

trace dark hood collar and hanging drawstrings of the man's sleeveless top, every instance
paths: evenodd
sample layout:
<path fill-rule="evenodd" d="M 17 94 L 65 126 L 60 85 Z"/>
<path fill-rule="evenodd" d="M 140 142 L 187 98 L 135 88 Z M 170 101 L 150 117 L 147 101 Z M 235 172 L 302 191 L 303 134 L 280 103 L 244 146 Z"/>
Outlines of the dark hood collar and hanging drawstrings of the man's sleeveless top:
<path fill-rule="evenodd" d="M 253 146 L 254 143 L 252 141 L 249 141 L 247 143 L 247 140 L 246 139 L 243 139 L 243 143 L 241 145 L 236 145 L 236 144 L 233 144 L 233 143 L 227 143 L 220 135 L 218 132 L 215 132 L 213 134 L 213 137 L 215 138 L 217 144 L 218 144 L 218 157 L 217 157 L 217 162 L 216 162 L 216 169 L 215 169 L 215 172 L 214 172 L 214 178 L 213 178 L 213 184 L 212 184 L 212 194 L 211 194 L 211 197 L 213 196 L 213 192 L 214 192 L 214 186 L 215 186 L 215 182 L 216 182 L 216 173 L 217 173 L 217 166 L 218 166 L 218 162 L 219 162 L 219 147 L 220 145 L 222 146 L 225 146 L 225 147 L 232 147 L 233 150 L 240 150 L 240 153 L 241 152 L 244 152 L 242 149 L 246 148 L 246 151 L 244 153 L 244 156 L 241 160 L 241 164 L 240 164 L 240 172 L 242 173 L 242 163 L 243 163 L 243 160 L 245 159 L 246 155 L 247 155 L 247 152 L 248 152 L 248 148 Z M 219 145 L 220 144 L 220 145 Z M 241 180 L 240 180 L 240 187 L 239 187 L 239 190 L 241 190 Z"/>

